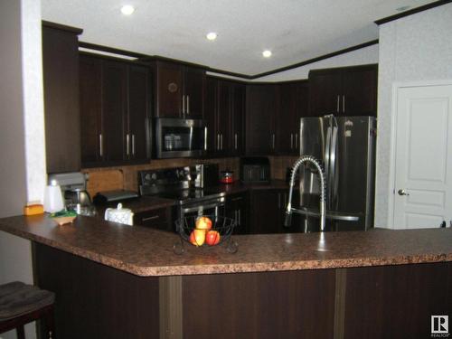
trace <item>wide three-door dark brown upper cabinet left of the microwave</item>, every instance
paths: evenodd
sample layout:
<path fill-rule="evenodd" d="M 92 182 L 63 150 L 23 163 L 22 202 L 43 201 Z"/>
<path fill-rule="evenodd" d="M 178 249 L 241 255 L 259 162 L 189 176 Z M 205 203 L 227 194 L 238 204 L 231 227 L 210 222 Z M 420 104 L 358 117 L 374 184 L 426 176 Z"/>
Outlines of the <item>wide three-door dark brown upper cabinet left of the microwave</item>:
<path fill-rule="evenodd" d="M 81 163 L 150 158 L 150 71 L 132 62 L 80 55 Z"/>

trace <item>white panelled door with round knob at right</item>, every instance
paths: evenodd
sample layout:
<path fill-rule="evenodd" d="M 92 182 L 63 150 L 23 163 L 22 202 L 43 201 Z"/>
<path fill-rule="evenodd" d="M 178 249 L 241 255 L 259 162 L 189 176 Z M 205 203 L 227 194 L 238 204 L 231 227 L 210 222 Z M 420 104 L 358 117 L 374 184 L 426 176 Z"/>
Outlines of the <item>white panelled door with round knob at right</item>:
<path fill-rule="evenodd" d="M 394 229 L 452 220 L 452 85 L 397 92 Z"/>

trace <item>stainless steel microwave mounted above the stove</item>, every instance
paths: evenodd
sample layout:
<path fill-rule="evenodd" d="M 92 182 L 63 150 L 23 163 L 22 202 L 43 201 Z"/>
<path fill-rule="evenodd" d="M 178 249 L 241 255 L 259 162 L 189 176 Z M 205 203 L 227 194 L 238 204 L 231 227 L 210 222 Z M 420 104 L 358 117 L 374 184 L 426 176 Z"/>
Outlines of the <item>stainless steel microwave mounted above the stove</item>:
<path fill-rule="evenodd" d="M 157 158 L 202 156 L 207 150 L 207 126 L 201 119 L 156 118 Z"/>

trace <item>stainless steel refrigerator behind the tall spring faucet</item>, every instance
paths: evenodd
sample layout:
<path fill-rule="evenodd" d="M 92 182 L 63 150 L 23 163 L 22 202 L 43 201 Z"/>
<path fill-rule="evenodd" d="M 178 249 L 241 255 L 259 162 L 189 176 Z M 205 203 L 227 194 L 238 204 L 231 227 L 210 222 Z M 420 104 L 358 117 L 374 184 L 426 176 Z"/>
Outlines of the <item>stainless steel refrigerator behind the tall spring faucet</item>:
<path fill-rule="evenodd" d="M 368 230 L 373 225 L 376 120 L 373 117 L 301 118 L 300 155 L 323 164 L 326 183 L 326 230 Z M 319 184 L 315 169 L 299 170 L 300 222 L 318 231 Z"/>

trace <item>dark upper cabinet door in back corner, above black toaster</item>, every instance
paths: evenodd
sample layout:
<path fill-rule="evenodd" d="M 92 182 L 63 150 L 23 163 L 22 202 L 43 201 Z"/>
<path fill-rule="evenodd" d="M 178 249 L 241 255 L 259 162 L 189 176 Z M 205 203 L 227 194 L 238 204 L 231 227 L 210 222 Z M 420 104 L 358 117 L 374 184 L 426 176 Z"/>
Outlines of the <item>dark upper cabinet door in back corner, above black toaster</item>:
<path fill-rule="evenodd" d="M 276 136 L 273 118 L 277 111 L 276 98 L 276 85 L 247 86 L 247 155 L 269 155 L 274 152 Z"/>

